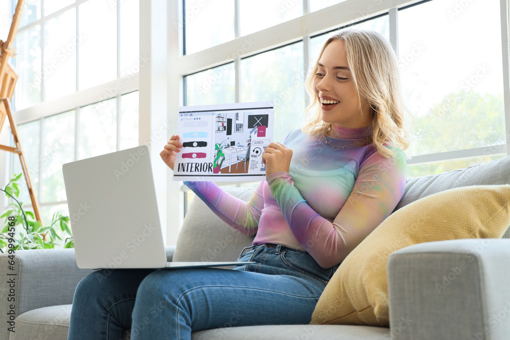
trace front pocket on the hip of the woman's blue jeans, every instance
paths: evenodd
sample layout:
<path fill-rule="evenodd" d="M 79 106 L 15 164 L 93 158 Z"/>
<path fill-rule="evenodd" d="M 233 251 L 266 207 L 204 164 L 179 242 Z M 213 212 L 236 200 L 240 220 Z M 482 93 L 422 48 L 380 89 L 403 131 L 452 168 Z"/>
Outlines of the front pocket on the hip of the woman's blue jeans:
<path fill-rule="evenodd" d="M 334 272 L 334 267 L 324 269 L 319 266 L 312 255 L 307 252 L 285 250 L 280 256 L 282 262 L 290 269 L 310 276 L 324 285 L 327 284 Z"/>

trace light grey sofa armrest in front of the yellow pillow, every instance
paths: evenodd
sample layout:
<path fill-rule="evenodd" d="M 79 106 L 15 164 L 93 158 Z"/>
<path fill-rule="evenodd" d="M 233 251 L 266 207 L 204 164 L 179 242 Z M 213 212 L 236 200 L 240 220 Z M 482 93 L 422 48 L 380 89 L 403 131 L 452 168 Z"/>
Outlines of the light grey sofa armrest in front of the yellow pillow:
<path fill-rule="evenodd" d="M 429 242 L 388 260 L 392 339 L 499 340 L 510 334 L 510 240 Z"/>

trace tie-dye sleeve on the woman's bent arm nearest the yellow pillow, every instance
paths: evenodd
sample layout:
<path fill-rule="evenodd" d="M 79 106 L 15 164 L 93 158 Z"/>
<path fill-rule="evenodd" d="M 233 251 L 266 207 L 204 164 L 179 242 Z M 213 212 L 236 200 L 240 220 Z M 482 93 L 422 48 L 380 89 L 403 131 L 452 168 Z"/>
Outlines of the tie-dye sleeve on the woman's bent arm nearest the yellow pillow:
<path fill-rule="evenodd" d="M 333 222 L 303 199 L 289 173 L 267 176 L 273 196 L 299 244 L 323 268 L 335 266 L 394 210 L 405 189 L 405 156 L 372 153 L 360 167 L 354 188 Z M 317 195 L 323 193 L 317 192 Z"/>

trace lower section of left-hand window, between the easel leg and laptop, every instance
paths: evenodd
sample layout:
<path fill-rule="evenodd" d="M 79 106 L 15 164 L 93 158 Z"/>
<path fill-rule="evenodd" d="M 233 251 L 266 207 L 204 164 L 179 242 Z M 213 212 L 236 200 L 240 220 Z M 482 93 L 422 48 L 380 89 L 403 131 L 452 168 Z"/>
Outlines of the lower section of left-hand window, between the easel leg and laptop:
<path fill-rule="evenodd" d="M 44 223 L 50 222 L 55 211 L 67 214 L 62 164 L 138 145 L 138 92 L 119 100 L 107 99 L 18 125 Z M 11 173 L 22 172 L 17 155 L 11 154 L 11 164 Z M 30 207 L 24 177 L 20 185 L 20 200 Z"/>

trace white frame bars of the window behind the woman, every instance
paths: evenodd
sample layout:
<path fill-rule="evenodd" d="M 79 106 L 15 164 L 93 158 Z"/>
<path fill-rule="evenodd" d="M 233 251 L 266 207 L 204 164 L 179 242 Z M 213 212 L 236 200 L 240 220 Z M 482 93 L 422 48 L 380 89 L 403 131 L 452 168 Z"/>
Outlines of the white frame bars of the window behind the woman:
<path fill-rule="evenodd" d="M 236 77 L 236 102 L 240 98 L 240 61 L 266 51 L 283 47 L 290 43 L 303 41 L 304 49 L 304 72 L 307 73 L 308 65 L 312 56 L 310 55 L 310 39 L 347 25 L 366 21 L 380 15 L 388 14 L 390 21 L 390 42 L 398 56 L 398 11 L 412 6 L 419 6 L 423 3 L 433 0 L 347 0 L 345 2 L 333 5 L 316 12 L 309 13 L 310 0 L 303 1 L 303 16 L 289 20 L 287 22 L 275 25 L 260 32 L 252 33 L 246 36 L 239 36 L 239 0 L 235 0 L 235 33 L 236 38 L 232 41 L 198 51 L 191 55 L 184 55 L 181 49 L 181 55 L 176 60 L 175 70 L 169 81 L 181 82 L 184 87 L 183 79 L 190 74 L 194 74 L 209 68 L 213 68 L 228 62 L 235 63 Z M 439 1 L 439 0 L 436 0 Z M 184 4 L 181 4 L 184 6 Z M 429 163 L 444 160 L 454 160 L 474 156 L 484 156 L 497 153 L 506 153 L 510 145 L 510 86 L 509 86 L 509 67 L 508 56 L 510 54 L 510 3 L 508 0 L 500 0 L 501 13 L 501 44 L 503 60 L 503 91 L 504 91 L 504 109 L 505 109 L 505 127 L 506 144 L 472 148 L 465 150 L 447 151 L 431 154 L 413 156 L 407 161 L 407 164 Z M 509 33 L 507 33 L 509 32 Z M 180 36 L 184 39 L 184 34 Z M 249 46 L 249 49 L 245 47 Z M 234 52 L 234 54 L 232 53 Z M 230 58 L 224 58 L 230 56 Z M 183 102 L 183 101 L 181 101 Z M 307 103 L 308 104 L 308 103 Z"/>

